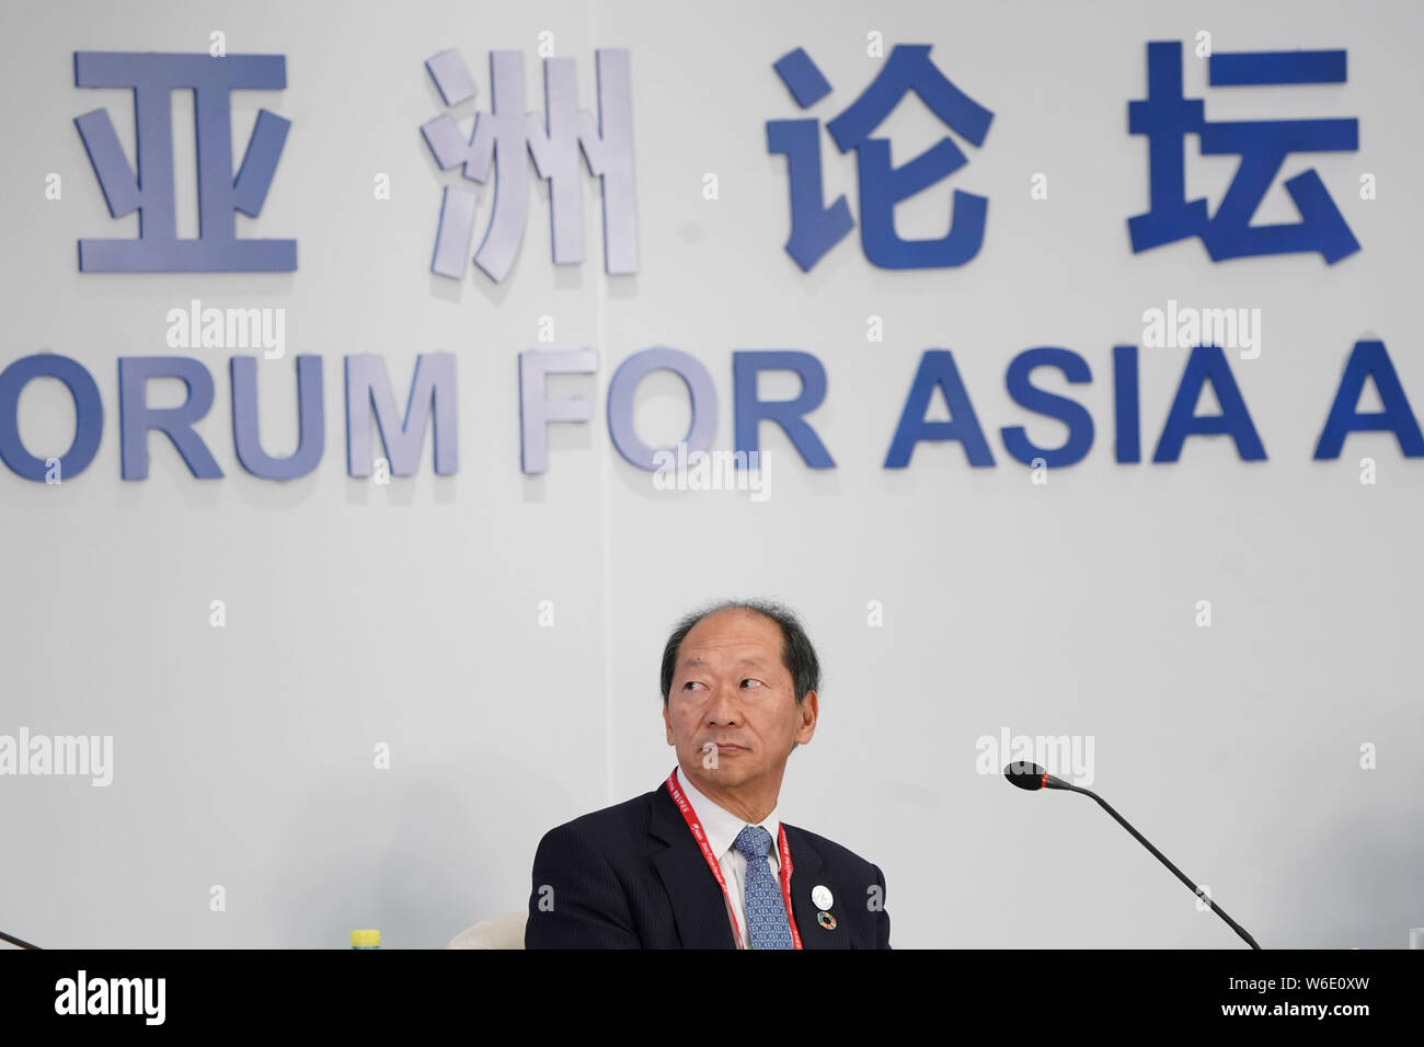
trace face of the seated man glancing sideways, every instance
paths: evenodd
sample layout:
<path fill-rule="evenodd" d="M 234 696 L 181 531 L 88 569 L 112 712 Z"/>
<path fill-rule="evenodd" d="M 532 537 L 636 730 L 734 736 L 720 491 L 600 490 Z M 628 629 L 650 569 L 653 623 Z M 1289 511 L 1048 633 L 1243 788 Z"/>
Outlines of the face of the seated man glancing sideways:
<path fill-rule="evenodd" d="M 816 732 L 816 692 L 800 705 L 782 664 L 782 630 L 760 614 L 709 614 L 682 641 L 662 719 L 693 783 L 736 788 L 775 776 Z M 716 744 L 716 764 L 708 742 Z"/>

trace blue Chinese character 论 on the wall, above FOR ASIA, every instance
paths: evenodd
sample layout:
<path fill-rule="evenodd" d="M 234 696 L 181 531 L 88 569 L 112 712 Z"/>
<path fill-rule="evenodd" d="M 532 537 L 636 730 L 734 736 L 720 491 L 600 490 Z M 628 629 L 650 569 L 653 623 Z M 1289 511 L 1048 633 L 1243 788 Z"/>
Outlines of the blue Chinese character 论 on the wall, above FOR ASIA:
<path fill-rule="evenodd" d="M 800 108 L 830 94 L 830 84 L 803 48 L 773 66 Z M 894 228 L 896 205 L 964 167 L 968 160 L 954 140 L 941 138 L 918 157 L 894 167 L 890 140 L 871 132 L 907 94 L 916 94 L 948 128 L 983 145 L 994 114 L 975 103 L 936 67 L 928 44 L 897 44 L 869 87 L 826 130 L 842 152 L 856 151 L 860 195 L 860 244 L 871 265 L 883 269 L 930 269 L 964 265 L 984 242 L 988 199 L 954 191 L 950 229 L 930 239 L 904 239 Z M 786 157 L 792 232 L 786 252 L 810 271 L 856 225 L 846 198 L 823 207 L 820 121 L 768 120 L 766 150 Z"/>

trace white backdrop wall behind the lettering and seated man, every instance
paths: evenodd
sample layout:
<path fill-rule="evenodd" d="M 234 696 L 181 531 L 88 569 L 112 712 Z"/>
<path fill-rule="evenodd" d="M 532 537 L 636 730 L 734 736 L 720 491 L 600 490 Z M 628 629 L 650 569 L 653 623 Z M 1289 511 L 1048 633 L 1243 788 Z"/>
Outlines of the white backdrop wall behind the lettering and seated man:
<path fill-rule="evenodd" d="M 1312 452 L 1357 339 L 1383 339 L 1424 405 L 1421 23 L 1410 3 L 7 4 L 0 366 L 71 356 L 105 415 L 83 474 L 46 486 L 0 470 L 0 734 L 111 735 L 114 778 L 0 778 L 0 927 L 46 946 L 340 947 L 366 926 L 386 946 L 444 944 L 525 903 L 547 829 L 666 776 L 656 674 L 676 617 L 770 595 L 802 613 L 824 667 L 822 722 L 790 759 L 780 813 L 881 866 L 897 943 L 1239 944 L 1091 802 L 978 773 L 977 739 L 1008 729 L 1091 738 L 1092 788 L 1265 946 L 1404 944 L 1424 926 L 1424 463 L 1387 433 L 1350 436 L 1334 462 Z M 296 272 L 78 272 L 77 239 L 137 235 L 137 219 L 108 217 L 73 124 L 107 107 L 131 147 L 131 95 L 74 87 L 73 53 L 201 53 L 214 30 L 229 53 L 286 56 L 285 91 L 235 95 L 234 141 L 241 155 L 259 107 L 292 121 L 265 208 L 238 229 L 296 238 Z M 1346 48 L 1349 81 L 1208 88 L 1200 30 L 1219 50 Z M 491 48 L 524 50 L 543 111 L 543 31 L 577 60 L 584 107 L 594 48 L 631 53 L 639 271 L 602 272 L 587 177 L 587 261 L 555 268 L 531 168 L 508 279 L 434 276 L 440 191 L 459 174 L 419 135 L 444 111 L 423 61 L 466 56 L 480 88 L 456 110 L 468 130 Z M 782 248 L 785 160 L 766 152 L 765 121 L 800 113 L 772 63 L 797 46 L 816 58 L 836 88 L 824 118 L 879 67 L 871 31 L 887 50 L 933 44 L 995 114 L 968 167 L 897 212 L 901 235 L 940 235 L 954 188 L 987 195 L 984 246 L 963 268 L 879 269 L 853 235 L 803 274 Z M 1280 184 L 1314 168 L 1358 254 L 1212 264 L 1196 239 L 1131 252 L 1148 168 L 1126 105 L 1145 97 L 1151 40 L 1186 44 L 1185 93 L 1210 120 L 1360 120 L 1358 152 L 1293 154 L 1256 215 L 1294 221 Z M 174 113 L 191 236 L 182 93 Z M 909 98 L 879 134 L 903 162 L 946 130 Z M 853 158 L 829 138 L 823 157 L 827 199 L 846 192 L 854 209 Z M 1190 140 L 1190 195 L 1215 205 L 1236 162 Z M 60 199 L 46 199 L 51 172 Z M 1031 197 L 1037 172 L 1047 199 Z M 1376 199 L 1358 197 L 1364 172 Z M 379 174 L 390 199 L 375 198 Z M 259 366 L 271 453 L 296 442 L 290 358 L 323 358 L 326 454 L 306 477 L 239 467 L 231 353 L 194 349 L 179 352 L 216 382 L 198 432 L 224 479 L 194 479 L 158 436 L 150 477 L 120 479 L 117 359 L 172 353 L 165 315 L 194 298 L 286 309 L 288 359 Z M 1227 437 L 1189 439 L 1172 464 L 1114 460 L 1111 348 L 1142 345 L 1143 311 L 1168 299 L 1262 311 L 1259 359 L 1229 358 L 1267 462 L 1242 462 Z M 883 342 L 867 342 L 871 315 Z M 617 365 L 658 345 L 712 373 L 723 450 L 733 350 L 815 353 L 829 390 L 810 420 L 837 467 L 807 469 L 763 426 L 768 501 L 654 490 L 614 449 L 605 403 Z M 998 437 L 1024 424 L 1062 439 L 1004 386 L 1008 360 L 1041 345 L 1089 362 L 1092 383 L 1071 395 L 1096 424 L 1088 457 L 1047 486 Z M 548 472 L 524 476 L 517 353 L 578 346 L 598 375 L 548 390 L 590 397 L 594 420 L 551 426 Z M 954 443 L 881 467 L 934 348 L 954 352 L 994 469 Z M 416 476 L 347 477 L 342 356 L 382 353 L 403 397 L 416 356 L 436 350 L 457 355 L 459 473 L 433 474 L 427 437 Z M 1141 350 L 1146 459 L 1185 359 Z M 796 392 L 775 379 L 763 397 Z M 155 402 L 178 396 L 154 383 Z M 948 417 L 943 402 L 931 417 Z M 649 443 L 675 442 L 681 380 L 644 382 L 637 420 Z M 61 453 L 68 395 L 31 383 L 19 423 L 34 453 Z M 1377 462 L 1373 486 L 1361 457 Z M 382 742 L 389 769 L 373 766 Z M 1360 766 L 1367 744 L 1376 769 Z"/>

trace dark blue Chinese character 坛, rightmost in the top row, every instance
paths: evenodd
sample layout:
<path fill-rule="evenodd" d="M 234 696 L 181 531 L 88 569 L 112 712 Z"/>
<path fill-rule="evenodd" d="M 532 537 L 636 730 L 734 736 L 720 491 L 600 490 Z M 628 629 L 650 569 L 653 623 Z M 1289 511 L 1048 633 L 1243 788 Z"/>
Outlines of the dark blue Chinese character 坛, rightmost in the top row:
<path fill-rule="evenodd" d="M 1344 51 L 1222 53 L 1208 60 L 1212 87 L 1341 84 Z M 1284 182 L 1299 222 L 1250 225 L 1272 179 L 1292 152 L 1353 152 L 1357 120 L 1206 120 L 1199 98 L 1182 97 L 1182 44 L 1148 44 L 1148 97 L 1128 103 L 1128 131 L 1148 138 L 1149 209 L 1128 219 L 1132 251 L 1200 236 L 1212 261 L 1319 252 L 1334 264 L 1360 249 L 1314 168 Z M 1186 199 L 1185 145 L 1195 134 L 1203 155 L 1240 155 L 1216 214 Z"/>

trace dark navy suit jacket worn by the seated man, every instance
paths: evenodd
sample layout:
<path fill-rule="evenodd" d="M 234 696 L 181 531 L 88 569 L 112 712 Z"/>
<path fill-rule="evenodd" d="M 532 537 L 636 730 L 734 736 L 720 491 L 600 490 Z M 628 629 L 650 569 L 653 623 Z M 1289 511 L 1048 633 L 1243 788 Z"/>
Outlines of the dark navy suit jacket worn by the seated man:
<path fill-rule="evenodd" d="M 824 836 L 783 826 L 802 946 L 889 949 L 880 869 Z M 833 896 L 834 930 L 816 922 L 817 885 Z M 666 785 L 544 833 L 524 947 L 736 949 L 722 889 Z"/>

